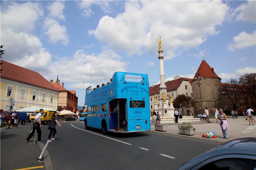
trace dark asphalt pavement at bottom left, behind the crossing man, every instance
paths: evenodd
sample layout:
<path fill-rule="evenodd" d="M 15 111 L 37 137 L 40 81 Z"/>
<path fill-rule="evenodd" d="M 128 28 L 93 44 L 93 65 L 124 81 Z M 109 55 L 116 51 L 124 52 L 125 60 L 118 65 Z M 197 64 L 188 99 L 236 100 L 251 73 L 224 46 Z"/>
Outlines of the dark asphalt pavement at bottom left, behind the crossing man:
<path fill-rule="evenodd" d="M 45 169 L 44 162 L 38 162 L 36 159 L 41 153 L 39 143 L 25 142 L 30 133 L 30 125 L 20 125 L 13 129 L 1 128 L 1 169 L 11 170 L 28 167 L 43 166 L 36 168 Z M 42 131 L 42 133 L 46 133 Z"/>

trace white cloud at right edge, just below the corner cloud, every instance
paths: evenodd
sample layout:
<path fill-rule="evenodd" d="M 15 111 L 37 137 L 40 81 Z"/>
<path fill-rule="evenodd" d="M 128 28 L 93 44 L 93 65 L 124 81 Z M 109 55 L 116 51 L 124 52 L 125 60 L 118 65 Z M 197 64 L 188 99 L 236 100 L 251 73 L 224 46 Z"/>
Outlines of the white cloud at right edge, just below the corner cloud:
<path fill-rule="evenodd" d="M 248 34 L 245 31 L 233 38 L 234 44 L 228 45 L 228 50 L 234 51 L 235 49 L 244 49 L 247 47 L 255 46 L 256 44 L 256 31 Z"/>

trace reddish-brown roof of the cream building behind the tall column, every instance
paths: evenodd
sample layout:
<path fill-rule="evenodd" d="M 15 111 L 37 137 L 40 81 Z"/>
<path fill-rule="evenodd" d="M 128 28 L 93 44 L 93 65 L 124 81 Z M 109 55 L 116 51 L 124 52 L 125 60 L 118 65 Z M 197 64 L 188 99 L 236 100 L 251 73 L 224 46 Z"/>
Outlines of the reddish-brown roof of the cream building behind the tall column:
<path fill-rule="evenodd" d="M 176 80 L 167 81 L 167 82 L 165 82 L 165 85 L 167 87 L 167 92 L 178 89 L 180 87 L 180 84 L 182 83 L 182 81 L 188 81 L 191 84 L 192 80 L 193 79 L 191 79 L 191 78 L 178 78 Z M 154 87 L 152 87 L 152 86 L 149 87 L 149 95 L 153 95 L 155 93 L 158 94 L 159 86 L 160 86 L 160 84 L 154 85 Z"/>

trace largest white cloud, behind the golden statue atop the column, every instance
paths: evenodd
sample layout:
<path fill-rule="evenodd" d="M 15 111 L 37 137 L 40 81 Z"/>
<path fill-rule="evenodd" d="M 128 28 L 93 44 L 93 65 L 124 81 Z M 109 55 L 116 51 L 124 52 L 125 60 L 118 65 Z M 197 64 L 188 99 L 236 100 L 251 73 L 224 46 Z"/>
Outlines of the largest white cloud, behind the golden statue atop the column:
<path fill-rule="evenodd" d="M 102 17 L 88 33 L 128 55 L 157 50 L 161 35 L 162 48 L 173 52 L 178 47 L 198 47 L 217 34 L 215 27 L 222 24 L 227 11 L 228 5 L 221 1 L 127 1 L 124 13 Z"/>

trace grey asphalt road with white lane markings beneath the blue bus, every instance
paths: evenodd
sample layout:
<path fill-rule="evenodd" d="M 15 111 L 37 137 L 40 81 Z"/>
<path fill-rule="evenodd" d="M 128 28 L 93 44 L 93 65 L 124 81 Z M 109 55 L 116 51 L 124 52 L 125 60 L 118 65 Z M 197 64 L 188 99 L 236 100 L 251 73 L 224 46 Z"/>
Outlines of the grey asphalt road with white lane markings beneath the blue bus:
<path fill-rule="evenodd" d="M 72 126 L 73 125 L 73 126 Z M 42 127 L 46 140 L 48 125 Z M 62 122 L 49 143 L 54 169 L 177 169 L 218 143 L 152 132 L 127 134 L 84 128 L 83 122 Z"/>

